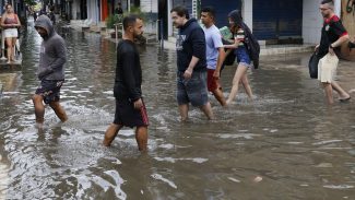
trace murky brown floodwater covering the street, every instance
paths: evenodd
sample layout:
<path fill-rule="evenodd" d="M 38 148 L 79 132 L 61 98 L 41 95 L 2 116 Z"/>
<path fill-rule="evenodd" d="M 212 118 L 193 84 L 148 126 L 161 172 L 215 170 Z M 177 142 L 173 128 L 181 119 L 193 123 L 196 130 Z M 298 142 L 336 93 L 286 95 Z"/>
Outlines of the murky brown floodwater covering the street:
<path fill-rule="evenodd" d="M 38 131 L 31 96 L 42 38 L 33 27 L 24 36 L 17 85 L 0 98 L 0 199 L 355 199 L 355 95 L 327 106 L 309 79 L 309 54 L 263 57 L 249 70 L 253 103 L 244 89 L 226 109 L 211 96 L 216 120 L 193 108 L 181 123 L 175 51 L 141 48 L 151 123 L 141 154 L 131 129 L 111 148 L 100 144 L 115 113 L 115 44 L 87 33 L 63 37 L 70 119 L 60 123 L 47 107 Z M 234 72 L 222 72 L 225 96 Z M 354 89 L 354 62 L 341 61 L 338 78 Z"/>

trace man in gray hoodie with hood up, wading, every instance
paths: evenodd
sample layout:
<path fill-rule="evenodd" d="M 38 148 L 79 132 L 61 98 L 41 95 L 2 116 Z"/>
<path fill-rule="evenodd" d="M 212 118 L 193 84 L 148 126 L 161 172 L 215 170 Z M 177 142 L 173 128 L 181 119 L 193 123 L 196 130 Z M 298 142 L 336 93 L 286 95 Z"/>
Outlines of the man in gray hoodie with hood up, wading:
<path fill-rule="evenodd" d="M 51 21 L 46 15 L 40 15 L 35 22 L 35 28 L 43 37 L 39 54 L 39 66 L 37 77 L 40 84 L 33 95 L 32 101 L 35 106 L 36 122 L 43 126 L 45 116 L 45 104 L 55 110 L 58 118 L 63 122 L 68 120 L 66 110 L 59 104 L 59 93 L 64 82 L 64 63 L 67 61 L 67 48 L 64 39 L 59 36 Z"/>

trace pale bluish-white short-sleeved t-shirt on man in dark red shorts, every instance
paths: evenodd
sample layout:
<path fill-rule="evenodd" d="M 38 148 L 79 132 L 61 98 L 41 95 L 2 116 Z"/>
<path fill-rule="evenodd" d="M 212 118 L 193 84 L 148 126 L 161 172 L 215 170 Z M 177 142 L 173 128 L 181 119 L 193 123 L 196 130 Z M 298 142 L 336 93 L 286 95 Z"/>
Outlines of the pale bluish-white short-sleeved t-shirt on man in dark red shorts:
<path fill-rule="evenodd" d="M 215 25 L 212 25 L 209 28 L 204 27 L 203 31 L 205 37 L 208 69 L 215 70 L 217 67 L 218 48 L 223 47 L 222 35 Z"/>

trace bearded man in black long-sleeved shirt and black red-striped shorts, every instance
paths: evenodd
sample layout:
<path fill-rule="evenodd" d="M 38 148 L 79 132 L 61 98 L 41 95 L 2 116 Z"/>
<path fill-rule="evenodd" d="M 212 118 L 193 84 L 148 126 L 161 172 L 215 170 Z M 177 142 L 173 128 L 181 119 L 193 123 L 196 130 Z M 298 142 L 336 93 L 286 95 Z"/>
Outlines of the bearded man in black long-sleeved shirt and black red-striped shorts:
<path fill-rule="evenodd" d="M 142 99 L 142 69 L 134 37 L 143 34 L 143 21 L 137 15 L 123 19 L 123 39 L 117 45 L 117 67 L 114 86 L 116 114 L 108 127 L 104 145 L 109 146 L 123 127 L 137 127 L 135 140 L 140 151 L 146 151 L 147 114 Z"/>

